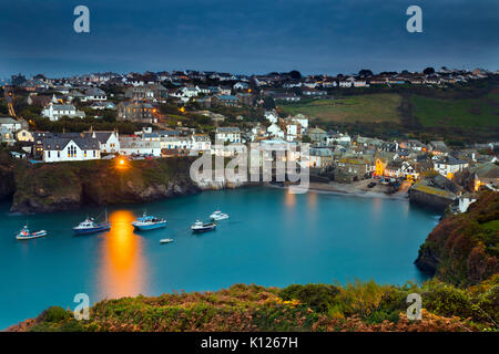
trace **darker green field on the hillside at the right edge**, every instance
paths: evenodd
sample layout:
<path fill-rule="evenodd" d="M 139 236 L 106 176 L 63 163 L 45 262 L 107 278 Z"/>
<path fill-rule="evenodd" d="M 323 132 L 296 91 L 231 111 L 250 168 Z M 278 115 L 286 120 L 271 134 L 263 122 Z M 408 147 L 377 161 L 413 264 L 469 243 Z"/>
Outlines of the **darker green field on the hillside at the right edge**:
<path fill-rule="evenodd" d="M 479 98 L 439 100 L 413 96 L 414 115 L 426 127 L 499 127 L 499 92 Z"/>

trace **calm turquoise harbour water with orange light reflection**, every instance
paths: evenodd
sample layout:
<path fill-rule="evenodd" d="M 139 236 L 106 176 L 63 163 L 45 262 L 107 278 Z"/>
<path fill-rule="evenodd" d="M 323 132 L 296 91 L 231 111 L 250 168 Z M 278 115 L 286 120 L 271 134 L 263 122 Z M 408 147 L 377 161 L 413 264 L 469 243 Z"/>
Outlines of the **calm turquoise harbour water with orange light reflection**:
<path fill-rule="evenodd" d="M 214 232 L 193 236 L 190 225 L 216 208 L 231 215 Z M 134 233 L 130 222 L 146 209 L 166 216 L 163 230 Z M 173 290 L 217 290 L 234 283 L 284 287 L 345 282 L 421 281 L 413 261 L 436 216 L 407 201 L 251 188 L 207 191 L 109 208 L 112 229 L 74 237 L 84 209 L 44 216 L 9 216 L 0 205 L 0 329 L 49 305 L 74 308 L 75 293 L 91 302 Z M 49 236 L 17 241 L 29 220 Z M 160 239 L 173 238 L 170 244 Z"/>

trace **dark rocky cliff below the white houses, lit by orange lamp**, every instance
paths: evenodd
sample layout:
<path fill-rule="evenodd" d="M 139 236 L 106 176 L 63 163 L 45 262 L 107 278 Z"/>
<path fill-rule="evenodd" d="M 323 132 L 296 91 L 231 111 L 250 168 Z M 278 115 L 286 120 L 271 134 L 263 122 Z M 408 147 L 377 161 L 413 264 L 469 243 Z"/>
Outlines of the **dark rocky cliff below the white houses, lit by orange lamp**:
<path fill-rule="evenodd" d="M 52 212 L 82 205 L 145 202 L 200 188 L 190 179 L 190 158 L 23 164 L 13 168 L 11 212 Z"/>

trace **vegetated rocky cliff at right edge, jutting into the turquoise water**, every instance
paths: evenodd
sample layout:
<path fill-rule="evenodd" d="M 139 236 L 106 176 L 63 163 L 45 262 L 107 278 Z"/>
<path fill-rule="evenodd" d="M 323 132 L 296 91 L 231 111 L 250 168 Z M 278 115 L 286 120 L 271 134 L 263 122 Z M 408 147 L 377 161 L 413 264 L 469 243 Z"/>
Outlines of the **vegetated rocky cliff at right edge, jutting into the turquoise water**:
<path fill-rule="evenodd" d="M 419 249 L 416 266 L 456 285 L 499 272 L 499 194 L 485 191 L 462 215 L 445 217 Z"/>

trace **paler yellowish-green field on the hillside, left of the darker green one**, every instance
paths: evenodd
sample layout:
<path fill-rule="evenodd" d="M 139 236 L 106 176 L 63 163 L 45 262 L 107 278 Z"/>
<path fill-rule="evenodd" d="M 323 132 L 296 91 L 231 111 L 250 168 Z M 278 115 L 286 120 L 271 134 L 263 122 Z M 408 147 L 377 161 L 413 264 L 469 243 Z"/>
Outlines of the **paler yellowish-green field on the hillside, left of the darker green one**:
<path fill-rule="evenodd" d="M 401 97 L 396 93 L 367 94 L 337 100 L 307 100 L 282 104 L 285 114 L 304 114 L 320 122 L 400 122 L 398 107 Z"/>

